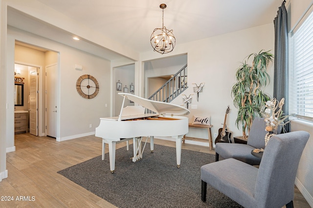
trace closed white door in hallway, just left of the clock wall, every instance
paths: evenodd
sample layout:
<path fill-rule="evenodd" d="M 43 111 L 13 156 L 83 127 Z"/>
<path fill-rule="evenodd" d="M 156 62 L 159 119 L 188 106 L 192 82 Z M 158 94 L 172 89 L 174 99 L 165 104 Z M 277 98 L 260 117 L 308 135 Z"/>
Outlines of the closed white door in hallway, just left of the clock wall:
<path fill-rule="evenodd" d="M 45 120 L 46 135 L 57 136 L 57 65 L 45 68 Z"/>

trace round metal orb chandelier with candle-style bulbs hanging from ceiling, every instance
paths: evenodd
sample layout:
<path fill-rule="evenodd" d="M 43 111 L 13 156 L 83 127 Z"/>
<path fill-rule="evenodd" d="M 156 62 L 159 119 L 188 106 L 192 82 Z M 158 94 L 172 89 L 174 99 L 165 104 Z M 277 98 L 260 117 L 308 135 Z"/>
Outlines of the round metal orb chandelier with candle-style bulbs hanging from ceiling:
<path fill-rule="evenodd" d="M 176 39 L 173 35 L 173 30 L 168 30 L 164 26 L 164 9 L 166 4 L 160 5 L 162 9 L 162 28 L 156 28 L 150 37 L 150 42 L 153 49 L 160 54 L 167 54 L 173 51 Z"/>

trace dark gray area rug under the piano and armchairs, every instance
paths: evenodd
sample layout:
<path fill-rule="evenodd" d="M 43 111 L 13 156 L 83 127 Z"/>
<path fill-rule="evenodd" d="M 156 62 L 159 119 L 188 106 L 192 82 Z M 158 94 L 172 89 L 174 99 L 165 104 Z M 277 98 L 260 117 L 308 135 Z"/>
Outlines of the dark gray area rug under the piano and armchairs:
<path fill-rule="evenodd" d="M 135 163 L 132 150 L 132 145 L 130 151 L 116 150 L 113 174 L 108 153 L 104 161 L 100 155 L 58 173 L 119 208 L 242 208 L 209 185 L 206 202 L 201 201 L 200 168 L 215 155 L 182 150 L 177 168 L 175 148 L 155 145 L 150 153 L 147 144 Z"/>

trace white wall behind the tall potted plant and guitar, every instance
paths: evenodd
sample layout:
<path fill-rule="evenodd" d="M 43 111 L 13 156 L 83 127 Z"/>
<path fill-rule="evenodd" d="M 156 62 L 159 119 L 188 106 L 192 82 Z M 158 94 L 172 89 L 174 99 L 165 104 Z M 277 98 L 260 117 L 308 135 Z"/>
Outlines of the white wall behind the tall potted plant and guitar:
<path fill-rule="evenodd" d="M 237 109 L 233 106 L 231 88 L 235 83 L 235 71 L 249 54 L 258 53 L 262 49 L 274 53 L 274 26 L 273 24 L 249 28 L 221 36 L 201 39 L 198 41 L 176 45 L 172 56 L 187 54 L 188 63 L 188 89 L 185 95 L 195 94 L 192 83 L 205 82 L 202 93 L 199 94 L 199 102 L 196 94 L 193 95 L 191 105 L 197 105 L 197 109 L 191 109 L 189 122 L 193 115 L 211 115 L 212 137 L 214 132 L 222 128 L 227 106 L 230 113 L 227 116 L 227 127 L 233 136 L 240 136 L 242 132 L 235 126 Z M 141 60 L 160 58 L 156 52 L 141 54 Z M 272 65 L 268 67 L 268 74 L 273 76 Z M 273 95 L 273 83 L 270 82 L 265 92 Z M 182 95 L 172 103 L 183 105 Z M 207 138 L 205 129 L 190 129 L 188 136 Z M 214 143 L 213 138 L 213 143 Z"/>

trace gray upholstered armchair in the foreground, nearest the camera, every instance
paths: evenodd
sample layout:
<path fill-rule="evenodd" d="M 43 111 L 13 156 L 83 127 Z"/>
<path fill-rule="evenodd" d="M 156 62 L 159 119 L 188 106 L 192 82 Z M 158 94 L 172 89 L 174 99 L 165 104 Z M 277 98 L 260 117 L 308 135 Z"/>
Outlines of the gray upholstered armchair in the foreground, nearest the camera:
<path fill-rule="evenodd" d="M 304 131 L 272 136 L 259 169 L 233 158 L 202 166 L 201 200 L 210 184 L 245 208 L 293 208 L 295 176 L 309 136 Z"/>

